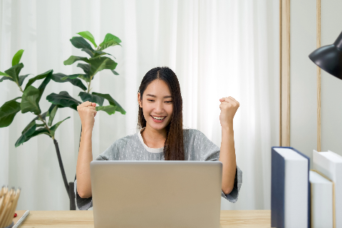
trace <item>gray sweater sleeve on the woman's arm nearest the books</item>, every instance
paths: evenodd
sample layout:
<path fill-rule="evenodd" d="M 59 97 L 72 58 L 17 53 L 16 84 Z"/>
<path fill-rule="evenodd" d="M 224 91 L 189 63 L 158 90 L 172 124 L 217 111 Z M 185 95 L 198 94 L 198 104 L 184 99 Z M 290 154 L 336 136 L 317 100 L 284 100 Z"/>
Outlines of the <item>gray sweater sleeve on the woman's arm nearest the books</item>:
<path fill-rule="evenodd" d="M 201 160 L 203 161 L 218 161 L 219 160 L 219 147 L 214 144 L 211 140 L 207 138 L 202 132 L 199 130 L 195 130 L 195 151 L 197 150 L 201 154 Z M 224 192 L 221 192 L 221 196 L 224 199 L 229 200 L 229 202 L 237 202 L 237 198 L 239 197 L 239 191 L 242 185 L 242 170 L 237 166 L 237 171 L 235 172 L 234 179 L 234 187 L 232 192 L 225 195 Z"/>

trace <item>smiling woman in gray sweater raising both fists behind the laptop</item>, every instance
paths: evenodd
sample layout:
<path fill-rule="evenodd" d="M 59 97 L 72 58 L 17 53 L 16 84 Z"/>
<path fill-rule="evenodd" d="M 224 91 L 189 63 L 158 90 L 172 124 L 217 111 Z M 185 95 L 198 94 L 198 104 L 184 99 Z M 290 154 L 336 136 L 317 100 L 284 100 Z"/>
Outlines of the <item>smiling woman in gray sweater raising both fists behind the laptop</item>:
<path fill-rule="evenodd" d="M 138 91 L 140 131 L 113 142 L 96 160 L 201 160 L 222 162 L 222 197 L 236 202 L 242 171 L 236 165 L 233 118 L 239 102 L 219 99 L 221 148 L 195 129 L 182 128 L 182 95 L 175 73 L 167 67 L 148 71 Z M 79 209 L 92 207 L 90 162 L 95 103 L 78 105 L 82 133 L 76 167 L 76 201 Z M 77 186 L 77 188 L 76 188 Z"/>

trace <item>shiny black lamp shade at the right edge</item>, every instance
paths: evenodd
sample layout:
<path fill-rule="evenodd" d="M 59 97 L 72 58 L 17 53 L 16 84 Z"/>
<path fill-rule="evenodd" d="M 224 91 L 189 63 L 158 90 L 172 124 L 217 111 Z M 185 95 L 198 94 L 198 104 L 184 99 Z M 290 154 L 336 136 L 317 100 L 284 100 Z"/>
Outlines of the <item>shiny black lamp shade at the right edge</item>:
<path fill-rule="evenodd" d="M 342 32 L 335 43 L 317 48 L 309 58 L 324 71 L 342 79 Z"/>

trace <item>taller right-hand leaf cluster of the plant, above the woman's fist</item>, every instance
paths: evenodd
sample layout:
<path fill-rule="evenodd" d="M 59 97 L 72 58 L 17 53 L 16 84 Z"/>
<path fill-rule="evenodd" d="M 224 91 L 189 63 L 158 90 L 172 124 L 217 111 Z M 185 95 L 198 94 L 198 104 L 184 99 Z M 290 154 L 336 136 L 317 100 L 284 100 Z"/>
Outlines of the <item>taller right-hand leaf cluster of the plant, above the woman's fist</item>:
<path fill-rule="evenodd" d="M 66 76 L 62 73 L 56 73 L 53 74 L 52 80 L 58 83 L 69 81 L 74 86 L 81 88 L 83 92 L 80 92 L 78 96 L 83 102 L 90 101 L 97 103 L 97 111 L 104 111 L 105 113 L 108 113 L 108 115 L 112 115 L 118 111 L 125 115 L 126 112 L 123 107 L 109 94 L 95 92 L 90 93 L 90 90 L 92 90 L 91 82 L 98 72 L 110 70 L 114 75 L 118 75 L 118 72 L 114 71 L 116 66 L 118 66 L 118 63 L 112 59 L 115 57 L 110 55 L 110 53 L 105 53 L 103 50 L 111 46 L 121 46 L 120 38 L 114 36 L 113 34 L 107 33 L 103 39 L 103 42 L 97 45 L 95 43 L 95 38 L 89 31 L 81 31 L 77 34 L 80 36 L 74 36 L 71 38 L 71 44 L 75 48 L 79 48 L 81 51 L 87 53 L 88 56 L 70 56 L 66 61 L 64 61 L 64 65 L 72 65 L 73 63 L 78 62 L 77 67 L 81 68 L 83 73 L 76 73 L 70 76 Z M 87 40 L 90 41 L 90 43 L 88 43 Z M 86 86 L 83 83 L 85 83 Z M 59 94 L 51 93 L 48 95 L 47 99 L 55 105 L 73 108 L 74 110 L 76 110 L 78 105 L 76 99 L 68 95 L 66 91 L 63 91 Z M 107 100 L 109 105 L 103 106 L 104 100 Z"/>

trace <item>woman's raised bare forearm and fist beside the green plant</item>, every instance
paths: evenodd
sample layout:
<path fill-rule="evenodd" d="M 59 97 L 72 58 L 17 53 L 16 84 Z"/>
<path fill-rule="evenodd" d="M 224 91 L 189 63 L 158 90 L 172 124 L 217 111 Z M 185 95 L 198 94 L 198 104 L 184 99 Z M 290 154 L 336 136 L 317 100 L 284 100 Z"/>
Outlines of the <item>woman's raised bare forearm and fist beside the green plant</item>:
<path fill-rule="evenodd" d="M 77 192 L 81 198 L 91 197 L 90 162 L 93 160 L 91 136 L 97 113 L 95 106 L 96 103 L 90 101 L 77 106 L 82 123 L 81 142 L 76 166 Z"/>

